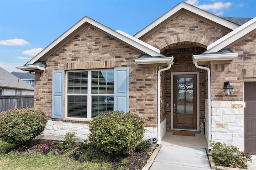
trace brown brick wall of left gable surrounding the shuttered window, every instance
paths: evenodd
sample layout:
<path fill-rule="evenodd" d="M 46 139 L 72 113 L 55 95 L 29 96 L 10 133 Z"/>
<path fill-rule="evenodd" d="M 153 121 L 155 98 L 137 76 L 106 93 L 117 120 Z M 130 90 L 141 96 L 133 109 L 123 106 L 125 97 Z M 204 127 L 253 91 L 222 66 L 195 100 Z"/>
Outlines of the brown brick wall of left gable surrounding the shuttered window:
<path fill-rule="evenodd" d="M 100 32 L 92 26 L 84 28 L 45 61 L 44 72 L 35 74 L 35 108 L 51 115 L 52 71 L 95 68 L 130 68 L 130 113 L 140 115 L 148 127 L 156 127 L 157 68 L 140 67 L 134 62 L 141 53 Z M 64 82 L 66 92 L 66 80 Z M 64 95 L 64 108 L 65 106 Z M 66 111 L 64 109 L 64 117 Z M 61 120 L 61 119 L 52 119 Z M 88 123 L 88 121 L 71 121 Z"/>

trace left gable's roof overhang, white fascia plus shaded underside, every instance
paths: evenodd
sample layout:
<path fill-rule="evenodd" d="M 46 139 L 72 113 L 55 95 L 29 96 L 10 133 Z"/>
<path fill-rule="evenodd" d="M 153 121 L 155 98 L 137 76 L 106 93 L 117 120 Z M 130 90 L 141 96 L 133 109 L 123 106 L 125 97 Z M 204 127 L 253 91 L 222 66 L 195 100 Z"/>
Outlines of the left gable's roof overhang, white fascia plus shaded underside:
<path fill-rule="evenodd" d="M 73 38 L 76 34 L 82 31 L 82 29 L 84 29 L 89 24 L 95 27 L 96 29 L 103 31 L 107 35 L 110 35 L 111 37 L 114 37 L 115 39 L 125 43 L 126 45 L 134 47 L 142 53 L 146 53 L 150 56 L 161 55 L 159 49 L 156 49 L 152 46 L 146 47 L 143 45 L 143 41 L 134 41 L 134 39 L 130 39 L 128 36 L 122 35 L 121 33 L 118 33 L 117 31 L 114 31 L 106 27 L 105 25 L 102 25 L 101 23 L 92 20 L 91 18 L 86 16 L 82 18 L 82 20 L 78 21 L 75 25 L 73 25 L 70 29 L 68 29 L 65 33 L 60 35 L 60 37 L 58 37 L 50 45 L 48 45 L 45 49 L 38 53 L 38 55 L 36 55 L 34 58 L 28 61 L 26 65 L 34 64 L 39 61 L 44 61 L 47 57 L 49 57 L 52 53 L 54 53 L 57 49 L 59 49 L 62 45 L 68 42 L 71 38 Z"/>

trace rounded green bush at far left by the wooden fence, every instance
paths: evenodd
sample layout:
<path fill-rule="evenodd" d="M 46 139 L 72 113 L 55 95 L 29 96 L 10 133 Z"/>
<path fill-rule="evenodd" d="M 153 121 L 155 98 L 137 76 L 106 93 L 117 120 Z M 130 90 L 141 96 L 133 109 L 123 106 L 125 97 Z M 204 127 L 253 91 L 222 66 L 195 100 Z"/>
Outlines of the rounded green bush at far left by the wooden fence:
<path fill-rule="evenodd" d="M 0 139 L 24 145 L 44 131 L 47 117 L 41 109 L 10 109 L 0 113 Z"/>

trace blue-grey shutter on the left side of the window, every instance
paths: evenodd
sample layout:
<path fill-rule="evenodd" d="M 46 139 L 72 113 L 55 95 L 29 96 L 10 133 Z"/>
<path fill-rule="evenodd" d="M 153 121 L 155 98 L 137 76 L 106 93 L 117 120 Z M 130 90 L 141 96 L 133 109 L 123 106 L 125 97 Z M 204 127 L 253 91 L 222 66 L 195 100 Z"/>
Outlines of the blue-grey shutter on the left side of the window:
<path fill-rule="evenodd" d="M 64 70 L 52 71 L 52 118 L 63 119 Z"/>

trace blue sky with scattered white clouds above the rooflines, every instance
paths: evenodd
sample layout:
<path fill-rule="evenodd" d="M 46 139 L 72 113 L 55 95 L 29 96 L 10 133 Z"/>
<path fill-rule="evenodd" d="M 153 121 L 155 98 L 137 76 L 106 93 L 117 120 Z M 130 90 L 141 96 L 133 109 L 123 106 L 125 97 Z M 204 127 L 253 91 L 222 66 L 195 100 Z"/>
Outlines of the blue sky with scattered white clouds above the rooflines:
<path fill-rule="evenodd" d="M 134 35 L 181 0 L 0 0 L 0 67 L 22 66 L 84 16 Z M 184 0 L 217 16 L 256 17 L 256 0 Z"/>

